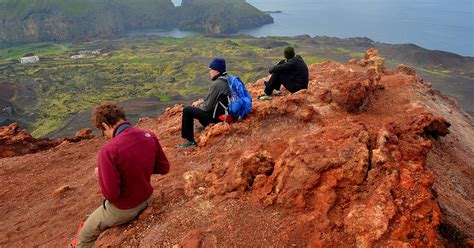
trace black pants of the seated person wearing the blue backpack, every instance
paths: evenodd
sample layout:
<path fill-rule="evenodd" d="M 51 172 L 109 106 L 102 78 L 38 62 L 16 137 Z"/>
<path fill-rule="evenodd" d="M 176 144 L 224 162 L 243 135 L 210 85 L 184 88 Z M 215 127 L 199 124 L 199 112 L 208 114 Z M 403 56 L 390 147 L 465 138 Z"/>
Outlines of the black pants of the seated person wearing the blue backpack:
<path fill-rule="evenodd" d="M 200 108 L 185 107 L 183 109 L 183 120 L 181 121 L 181 137 L 190 141 L 194 140 L 194 119 L 197 119 L 203 127 L 221 121 L 218 118 L 212 118 L 212 115 L 213 112 L 207 112 Z"/>

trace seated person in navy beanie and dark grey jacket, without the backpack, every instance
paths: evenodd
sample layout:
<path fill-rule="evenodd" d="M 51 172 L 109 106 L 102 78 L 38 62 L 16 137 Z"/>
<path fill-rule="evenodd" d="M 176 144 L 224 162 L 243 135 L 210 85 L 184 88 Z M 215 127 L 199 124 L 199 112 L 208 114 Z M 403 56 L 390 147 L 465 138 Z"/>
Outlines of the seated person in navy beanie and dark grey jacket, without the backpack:
<path fill-rule="evenodd" d="M 205 128 L 210 123 L 221 122 L 219 116 L 224 115 L 228 108 L 228 95 L 230 94 L 227 84 L 226 64 L 223 58 L 215 58 L 209 64 L 209 76 L 213 81 L 209 93 L 205 99 L 195 101 L 191 107 L 183 109 L 181 122 L 181 137 L 185 139 L 178 148 L 196 146 L 194 140 L 194 119 L 199 120 Z"/>

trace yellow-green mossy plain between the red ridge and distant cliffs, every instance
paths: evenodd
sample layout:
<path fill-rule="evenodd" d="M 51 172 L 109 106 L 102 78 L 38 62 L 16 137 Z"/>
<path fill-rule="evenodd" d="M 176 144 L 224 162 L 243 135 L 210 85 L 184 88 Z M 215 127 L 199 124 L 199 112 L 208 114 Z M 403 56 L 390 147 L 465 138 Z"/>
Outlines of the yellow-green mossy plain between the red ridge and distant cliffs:
<path fill-rule="evenodd" d="M 361 57 L 366 49 L 316 44 L 307 37 L 141 37 L 79 44 L 48 42 L 0 50 L 0 68 L 4 67 L 0 81 L 29 90 L 28 96 L 18 97 L 13 104 L 19 112 L 18 120 L 39 137 L 64 128 L 67 120 L 102 101 L 125 102 L 145 97 L 166 103 L 202 96 L 210 85 L 207 66 L 212 57 L 224 57 L 229 73 L 246 83 L 255 82 L 282 58 L 287 45 L 295 46 L 308 64 L 326 59 L 347 61 Z M 101 54 L 71 58 L 82 50 L 99 50 Z M 19 64 L 18 60 L 27 54 L 35 54 L 41 61 Z M 445 72 L 435 73 L 445 76 Z"/>

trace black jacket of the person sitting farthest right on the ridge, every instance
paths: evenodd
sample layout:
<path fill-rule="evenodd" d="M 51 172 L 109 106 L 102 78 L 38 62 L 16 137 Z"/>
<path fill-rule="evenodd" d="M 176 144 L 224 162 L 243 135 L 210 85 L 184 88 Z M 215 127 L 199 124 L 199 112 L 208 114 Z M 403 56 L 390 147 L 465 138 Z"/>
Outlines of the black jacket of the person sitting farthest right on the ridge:
<path fill-rule="evenodd" d="M 278 63 L 269 70 L 270 73 L 287 73 L 292 81 L 297 84 L 300 89 L 308 88 L 309 72 L 308 66 L 300 55 Z"/>

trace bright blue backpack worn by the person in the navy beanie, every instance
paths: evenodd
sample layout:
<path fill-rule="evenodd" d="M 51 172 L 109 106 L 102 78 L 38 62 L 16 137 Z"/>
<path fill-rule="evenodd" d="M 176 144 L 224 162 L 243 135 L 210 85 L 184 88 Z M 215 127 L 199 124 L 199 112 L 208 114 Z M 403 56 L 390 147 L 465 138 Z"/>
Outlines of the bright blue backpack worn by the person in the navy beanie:
<path fill-rule="evenodd" d="M 227 84 L 229 85 L 229 113 L 236 120 L 245 118 L 252 109 L 252 96 L 245 88 L 244 83 L 240 78 L 229 75 L 227 77 Z"/>

